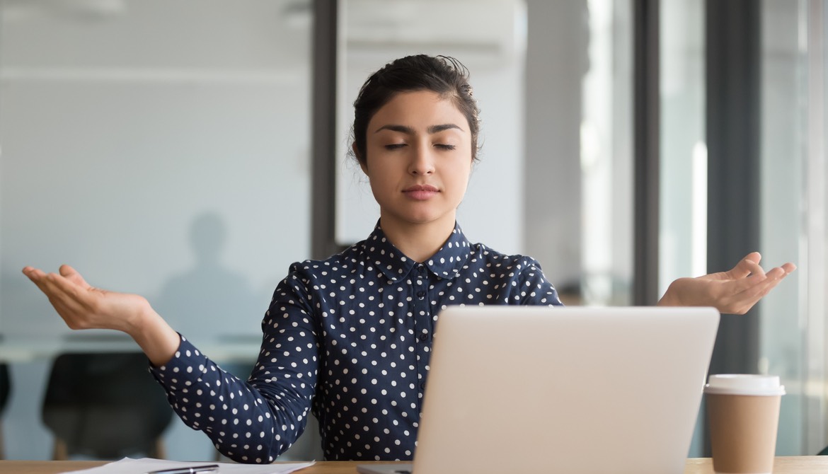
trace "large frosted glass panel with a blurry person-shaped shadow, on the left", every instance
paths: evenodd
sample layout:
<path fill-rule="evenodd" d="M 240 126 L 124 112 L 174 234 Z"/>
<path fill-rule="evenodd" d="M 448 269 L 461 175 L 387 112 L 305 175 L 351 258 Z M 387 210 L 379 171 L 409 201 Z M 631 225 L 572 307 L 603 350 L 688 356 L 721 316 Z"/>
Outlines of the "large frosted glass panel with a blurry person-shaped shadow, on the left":
<path fill-rule="evenodd" d="M 272 290 L 309 254 L 311 15 L 309 0 L 0 2 L 6 340 L 81 337 L 20 272 L 69 263 L 196 345 L 249 340 L 256 357 Z M 12 366 L 7 457 L 51 457 L 48 363 Z M 166 438 L 171 457 L 214 456 L 177 419 Z"/>

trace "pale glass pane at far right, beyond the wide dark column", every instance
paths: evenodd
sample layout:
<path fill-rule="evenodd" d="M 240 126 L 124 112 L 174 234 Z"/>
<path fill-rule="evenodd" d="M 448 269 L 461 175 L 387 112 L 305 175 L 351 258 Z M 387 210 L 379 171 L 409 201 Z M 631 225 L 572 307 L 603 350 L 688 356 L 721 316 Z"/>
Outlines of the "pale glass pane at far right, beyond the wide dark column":
<path fill-rule="evenodd" d="M 758 371 L 787 387 L 777 454 L 816 454 L 828 445 L 826 8 L 766 0 L 762 22 L 763 255 L 799 270 L 759 310 Z"/>

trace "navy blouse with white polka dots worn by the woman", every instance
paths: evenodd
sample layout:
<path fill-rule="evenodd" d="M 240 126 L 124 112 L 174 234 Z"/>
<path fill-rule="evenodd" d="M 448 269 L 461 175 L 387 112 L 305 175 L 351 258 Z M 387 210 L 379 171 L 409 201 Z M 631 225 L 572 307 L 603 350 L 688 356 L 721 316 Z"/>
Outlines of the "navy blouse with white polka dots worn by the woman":
<path fill-rule="evenodd" d="M 291 266 L 262 321 L 248 381 L 181 338 L 151 367 L 185 424 L 238 462 L 272 462 L 306 419 L 328 460 L 407 460 L 416 447 L 431 342 L 451 304 L 561 304 L 537 261 L 466 240 L 459 226 L 422 263 L 377 226 L 324 261 Z"/>

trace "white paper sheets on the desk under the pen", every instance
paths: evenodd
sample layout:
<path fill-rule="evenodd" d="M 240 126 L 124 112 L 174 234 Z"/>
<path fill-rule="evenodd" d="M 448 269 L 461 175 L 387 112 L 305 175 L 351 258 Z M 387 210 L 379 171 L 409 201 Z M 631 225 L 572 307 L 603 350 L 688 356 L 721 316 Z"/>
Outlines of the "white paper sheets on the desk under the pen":
<path fill-rule="evenodd" d="M 164 459 L 153 459 L 142 457 L 132 459 L 124 457 L 120 461 L 109 462 L 99 467 L 84 469 L 82 471 L 63 472 L 61 474 L 144 474 L 145 472 L 158 471 L 160 469 L 172 469 L 175 467 L 203 466 L 205 464 L 218 464 L 218 474 L 288 474 L 298 471 L 303 467 L 313 465 L 310 462 L 282 462 L 277 464 L 236 464 L 235 462 L 210 462 L 210 461 L 166 461 Z"/>

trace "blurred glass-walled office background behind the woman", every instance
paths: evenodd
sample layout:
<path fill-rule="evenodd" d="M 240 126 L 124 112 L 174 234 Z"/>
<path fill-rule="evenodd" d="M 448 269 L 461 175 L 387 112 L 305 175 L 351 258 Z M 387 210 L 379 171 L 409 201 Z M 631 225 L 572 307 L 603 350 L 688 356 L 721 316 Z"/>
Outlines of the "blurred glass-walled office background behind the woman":
<path fill-rule="evenodd" d="M 718 3 L 0 0 L 0 334 L 31 341 L 7 357 L 6 457 L 51 457 L 49 347 L 79 341 L 22 266 L 69 263 L 147 296 L 208 355 L 242 342 L 252 360 L 290 263 L 371 231 L 376 205 L 345 155 L 350 103 L 373 70 L 415 53 L 463 61 L 482 109 L 460 224 L 535 256 L 570 301 L 652 304 L 679 276 L 734 265 L 725 237 L 768 266 L 797 262 L 751 314 L 727 318 L 716 360 L 782 376 L 777 454 L 824 448 L 828 13 L 816 0 Z M 732 18 L 741 49 L 724 44 Z M 732 89 L 710 74 L 729 63 L 744 74 Z M 642 119 L 643 94 L 657 103 Z M 743 102 L 719 113 L 731 97 Z M 730 122 L 711 130 L 711 110 Z M 722 152 L 729 136 L 748 146 Z M 720 213 L 725 187 L 748 198 L 735 217 Z M 745 216 L 744 240 L 722 229 Z M 172 459 L 214 456 L 177 419 L 164 442 Z M 700 424 L 690 454 L 704 453 Z"/>

